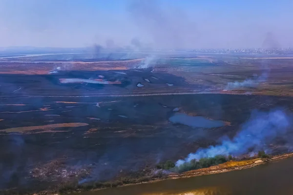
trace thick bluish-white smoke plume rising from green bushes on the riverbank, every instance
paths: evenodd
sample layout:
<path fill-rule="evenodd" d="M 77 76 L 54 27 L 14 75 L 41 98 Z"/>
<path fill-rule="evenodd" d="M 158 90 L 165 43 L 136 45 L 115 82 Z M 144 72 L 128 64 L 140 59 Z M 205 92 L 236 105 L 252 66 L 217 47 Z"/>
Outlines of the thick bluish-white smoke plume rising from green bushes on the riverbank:
<path fill-rule="evenodd" d="M 204 157 L 239 156 L 248 152 L 268 150 L 267 144 L 276 137 L 284 137 L 290 126 L 291 116 L 286 115 L 283 110 L 271 110 L 268 113 L 254 111 L 235 137 L 232 139 L 226 137 L 219 145 L 199 149 L 184 160 L 178 160 L 176 165 L 180 166 L 192 159 Z"/>

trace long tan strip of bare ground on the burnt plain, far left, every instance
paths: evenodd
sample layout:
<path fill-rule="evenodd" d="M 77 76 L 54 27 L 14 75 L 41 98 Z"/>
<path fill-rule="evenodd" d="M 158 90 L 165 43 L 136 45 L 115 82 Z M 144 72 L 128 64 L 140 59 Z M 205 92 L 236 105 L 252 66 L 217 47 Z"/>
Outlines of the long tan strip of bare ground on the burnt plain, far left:
<path fill-rule="evenodd" d="M 88 124 L 87 123 L 80 123 L 80 122 L 59 123 L 59 124 L 49 124 L 49 125 L 30 126 L 30 127 L 15 127 L 15 128 L 9 128 L 9 129 L 2 129 L 2 130 L 0 130 L 0 132 L 24 133 L 24 132 L 33 131 L 33 130 L 48 130 L 48 129 L 61 128 L 61 127 L 82 127 L 82 126 L 86 126 L 86 125 L 88 125 Z"/>

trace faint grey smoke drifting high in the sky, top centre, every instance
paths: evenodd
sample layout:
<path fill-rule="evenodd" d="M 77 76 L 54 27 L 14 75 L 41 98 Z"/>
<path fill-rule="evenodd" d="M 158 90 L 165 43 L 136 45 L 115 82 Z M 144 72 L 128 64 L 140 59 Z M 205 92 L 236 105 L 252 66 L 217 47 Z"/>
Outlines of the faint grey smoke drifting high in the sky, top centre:
<path fill-rule="evenodd" d="M 136 27 L 142 32 L 141 36 L 151 40 L 153 47 L 191 47 L 190 39 L 197 33 L 194 23 L 178 8 L 164 8 L 156 0 L 133 0 L 128 11 Z"/>

